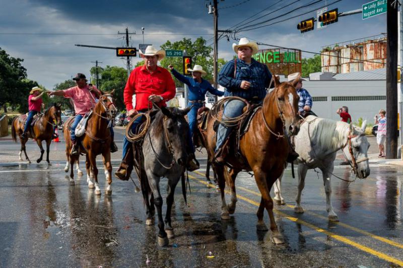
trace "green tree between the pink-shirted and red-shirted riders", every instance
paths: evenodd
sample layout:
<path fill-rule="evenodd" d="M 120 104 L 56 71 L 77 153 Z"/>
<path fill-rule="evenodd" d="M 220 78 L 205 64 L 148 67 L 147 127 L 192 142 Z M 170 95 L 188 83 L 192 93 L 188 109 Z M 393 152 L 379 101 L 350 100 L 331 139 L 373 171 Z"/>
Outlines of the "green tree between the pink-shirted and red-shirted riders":
<path fill-rule="evenodd" d="M 91 69 L 91 75 L 95 73 L 95 67 Z M 101 71 L 101 73 L 99 73 Z M 106 65 L 105 69 L 99 70 L 98 75 L 101 74 L 102 79 L 99 81 L 99 89 L 104 92 L 115 90 L 115 104 L 119 110 L 125 109 L 123 102 L 123 90 L 127 82 L 127 70 L 118 66 Z"/>

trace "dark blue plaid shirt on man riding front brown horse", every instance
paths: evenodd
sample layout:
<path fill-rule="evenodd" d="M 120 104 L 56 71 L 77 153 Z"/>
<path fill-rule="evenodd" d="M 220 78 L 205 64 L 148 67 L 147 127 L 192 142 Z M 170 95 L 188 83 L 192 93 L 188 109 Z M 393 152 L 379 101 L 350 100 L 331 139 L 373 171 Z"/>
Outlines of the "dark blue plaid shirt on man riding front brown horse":
<path fill-rule="evenodd" d="M 250 82 L 248 90 L 240 88 L 242 80 Z M 246 100 L 263 99 L 271 80 L 272 74 L 268 71 L 267 66 L 253 58 L 250 64 L 246 64 L 242 59 L 237 59 L 235 78 L 234 60 L 228 61 L 218 75 L 218 83 L 225 87 L 224 96 L 237 96 Z"/>

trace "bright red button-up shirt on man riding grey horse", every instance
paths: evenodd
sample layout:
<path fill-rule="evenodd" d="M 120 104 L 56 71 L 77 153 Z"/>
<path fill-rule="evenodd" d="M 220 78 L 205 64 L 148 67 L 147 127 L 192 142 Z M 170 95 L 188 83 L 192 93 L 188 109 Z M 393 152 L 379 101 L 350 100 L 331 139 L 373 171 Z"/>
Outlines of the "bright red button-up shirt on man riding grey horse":
<path fill-rule="evenodd" d="M 159 95 L 163 98 L 158 105 L 166 106 L 166 102 L 175 97 L 175 82 L 168 70 L 157 66 L 157 69 L 150 73 L 146 66 L 139 66 L 131 71 L 123 91 L 123 100 L 127 111 L 133 109 L 132 97 L 136 94 L 136 110 L 152 108 L 148 98 L 150 95 Z"/>

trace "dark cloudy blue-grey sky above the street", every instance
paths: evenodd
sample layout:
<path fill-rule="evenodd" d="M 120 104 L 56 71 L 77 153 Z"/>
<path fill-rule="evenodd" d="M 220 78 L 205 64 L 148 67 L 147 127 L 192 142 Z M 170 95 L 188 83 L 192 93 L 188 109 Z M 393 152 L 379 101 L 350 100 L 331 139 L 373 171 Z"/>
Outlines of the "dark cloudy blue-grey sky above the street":
<path fill-rule="evenodd" d="M 342 17 L 325 29 L 300 34 L 298 22 L 316 17 L 314 10 L 328 5 L 339 12 L 360 9 L 368 0 L 219 0 L 219 29 L 233 25 L 259 13 L 274 12 L 254 21 L 271 20 L 266 24 L 286 20 L 271 26 L 239 32 L 260 42 L 319 52 L 322 46 L 386 32 L 386 15 L 362 20 L 361 14 Z M 131 35 L 132 46 L 143 42 L 141 28 L 145 28 L 145 43 L 159 47 L 166 40 L 203 36 L 211 40 L 213 17 L 208 14 L 205 0 L 165 1 L 107 1 L 107 0 L 0 0 L 0 47 L 14 57 L 24 58 L 29 79 L 51 89 L 56 83 L 70 79 L 76 73 L 89 75 L 94 63 L 101 66 L 125 66 L 114 50 L 83 48 L 74 44 L 120 46 L 125 27 Z M 295 10 L 295 11 L 293 11 Z M 307 13 L 309 12 L 309 13 Z M 307 13 L 306 15 L 300 14 Z M 241 35 L 241 36 L 240 36 Z M 219 42 L 219 57 L 233 55 L 230 38 Z M 212 44 L 209 41 L 208 44 Z M 303 53 L 303 57 L 312 54 Z M 139 58 L 135 59 L 135 62 Z"/>

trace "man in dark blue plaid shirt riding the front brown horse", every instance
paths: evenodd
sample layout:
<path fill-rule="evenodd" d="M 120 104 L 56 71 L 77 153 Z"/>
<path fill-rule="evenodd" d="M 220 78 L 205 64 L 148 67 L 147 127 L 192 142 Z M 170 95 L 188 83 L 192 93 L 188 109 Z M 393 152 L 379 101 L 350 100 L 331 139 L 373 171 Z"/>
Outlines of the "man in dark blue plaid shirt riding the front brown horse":
<path fill-rule="evenodd" d="M 237 96 L 247 101 L 260 102 L 266 96 L 266 88 L 270 86 L 272 74 L 265 64 L 252 58 L 258 50 L 255 42 L 241 38 L 239 44 L 232 48 L 238 57 L 228 61 L 218 75 L 218 82 L 225 87 L 224 96 Z M 231 100 L 224 105 L 223 118 L 234 118 L 242 114 L 245 103 L 240 100 Z M 233 127 L 220 124 L 217 131 L 215 161 L 224 163 L 227 146 L 223 146 Z"/>

